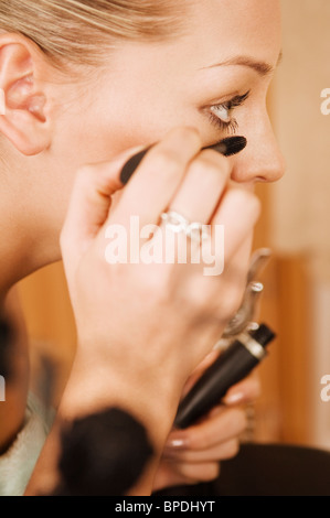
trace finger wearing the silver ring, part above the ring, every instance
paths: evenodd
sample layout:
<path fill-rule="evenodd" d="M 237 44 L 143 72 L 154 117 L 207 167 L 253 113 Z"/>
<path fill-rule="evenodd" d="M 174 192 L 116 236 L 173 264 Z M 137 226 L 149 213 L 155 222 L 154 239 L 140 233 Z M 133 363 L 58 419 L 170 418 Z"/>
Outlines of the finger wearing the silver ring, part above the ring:
<path fill-rule="evenodd" d="M 190 222 L 207 224 L 230 179 L 230 162 L 214 151 L 203 151 L 194 160 L 170 209 Z"/>

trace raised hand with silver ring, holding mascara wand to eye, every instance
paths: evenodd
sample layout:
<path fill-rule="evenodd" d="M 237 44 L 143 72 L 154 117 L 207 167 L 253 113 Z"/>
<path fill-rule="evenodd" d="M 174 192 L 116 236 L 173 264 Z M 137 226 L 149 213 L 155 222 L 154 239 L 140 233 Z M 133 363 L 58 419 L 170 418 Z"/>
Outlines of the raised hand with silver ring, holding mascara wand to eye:
<path fill-rule="evenodd" d="M 169 132 L 111 209 L 120 171 L 137 150 L 83 168 L 61 239 L 78 332 L 62 412 L 70 419 L 120 404 L 146 424 L 159 456 L 187 379 L 241 305 L 259 214 L 257 198 L 232 184 L 232 162 L 201 148 L 195 130 Z M 131 216 L 142 228 L 168 211 L 211 224 L 213 246 L 214 229 L 224 226 L 222 274 L 204 276 L 204 263 L 107 263 L 109 227 L 119 225 L 129 239 Z"/>

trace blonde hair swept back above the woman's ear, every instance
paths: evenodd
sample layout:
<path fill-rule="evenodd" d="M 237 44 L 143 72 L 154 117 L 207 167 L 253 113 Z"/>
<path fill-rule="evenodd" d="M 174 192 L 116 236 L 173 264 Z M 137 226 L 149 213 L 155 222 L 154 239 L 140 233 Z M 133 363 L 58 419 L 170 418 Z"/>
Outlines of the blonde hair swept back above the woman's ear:
<path fill-rule="evenodd" d="M 0 0 L 0 30 L 23 34 L 57 63 L 95 64 L 116 40 L 181 31 L 185 0 Z M 108 39 L 108 45 L 106 45 Z"/>

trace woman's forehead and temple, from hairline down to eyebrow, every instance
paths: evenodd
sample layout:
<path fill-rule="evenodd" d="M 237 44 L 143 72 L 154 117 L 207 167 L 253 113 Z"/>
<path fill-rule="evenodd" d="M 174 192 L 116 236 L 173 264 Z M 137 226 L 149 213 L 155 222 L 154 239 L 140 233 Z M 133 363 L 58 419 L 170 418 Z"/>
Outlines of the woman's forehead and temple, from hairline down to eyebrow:
<path fill-rule="evenodd" d="M 118 44 L 108 67 L 117 82 L 172 91 L 173 85 L 184 89 L 190 80 L 198 80 L 203 68 L 239 56 L 276 66 L 281 36 L 279 0 L 182 1 L 187 10 L 181 35 L 158 43 Z"/>

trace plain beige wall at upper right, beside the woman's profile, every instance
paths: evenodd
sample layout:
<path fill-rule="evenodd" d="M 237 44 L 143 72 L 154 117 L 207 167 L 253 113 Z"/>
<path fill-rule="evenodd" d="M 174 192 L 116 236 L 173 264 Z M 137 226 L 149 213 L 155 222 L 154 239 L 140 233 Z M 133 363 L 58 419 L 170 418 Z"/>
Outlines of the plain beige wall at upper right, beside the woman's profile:
<path fill-rule="evenodd" d="M 329 0 L 283 0 L 284 61 L 274 84 L 274 123 L 287 175 L 274 185 L 273 239 L 278 250 L 330 257 Z"/>

